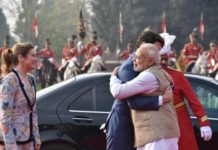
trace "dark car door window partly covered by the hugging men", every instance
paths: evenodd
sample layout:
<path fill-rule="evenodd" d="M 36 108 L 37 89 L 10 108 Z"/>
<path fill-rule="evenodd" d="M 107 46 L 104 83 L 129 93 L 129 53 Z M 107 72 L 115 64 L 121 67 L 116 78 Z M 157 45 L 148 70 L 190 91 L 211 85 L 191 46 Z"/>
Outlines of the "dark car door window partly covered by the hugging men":
<path fill-rule="evenodd" d="M 97 111 L 110 111 L 113 96 L 109 90 L 109 82 L 104 82 L 96 86 L 96 110 Z"/>

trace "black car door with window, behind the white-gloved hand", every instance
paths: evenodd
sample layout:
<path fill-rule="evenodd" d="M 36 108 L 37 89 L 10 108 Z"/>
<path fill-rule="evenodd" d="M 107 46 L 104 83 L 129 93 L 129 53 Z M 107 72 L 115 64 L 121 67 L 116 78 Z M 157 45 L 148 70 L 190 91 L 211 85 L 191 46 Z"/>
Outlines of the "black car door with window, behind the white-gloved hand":
<path fill-rule="evenodd" d="M 218 143 L 216 142 L 218 140 L 218 84 L 203 79 L 188 79 L 191 83 L 192 89 L 206 110 L 206 114 L 213 131 L 212 140 L 205 142 L 201 138 L 197 118 L 190 111 L 199 148 L 202 150 L 215 150 L 218 146 Z"/>

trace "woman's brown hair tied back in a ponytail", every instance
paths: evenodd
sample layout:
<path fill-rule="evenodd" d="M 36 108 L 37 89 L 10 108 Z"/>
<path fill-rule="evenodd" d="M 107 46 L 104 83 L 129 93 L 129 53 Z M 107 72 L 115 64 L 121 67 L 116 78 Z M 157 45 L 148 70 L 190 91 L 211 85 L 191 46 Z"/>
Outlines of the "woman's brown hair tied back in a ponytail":
<path fill-rule="evenodd" d="M 1 76 L 4 77 L 11 72 L 12 68 L 18 65 L 18 56 L 26 57 L 31 49 L 33 49 L 33 45 L 28 42 L 17 43 L 12 49 L 5 49 L 2 52 Z"/>

